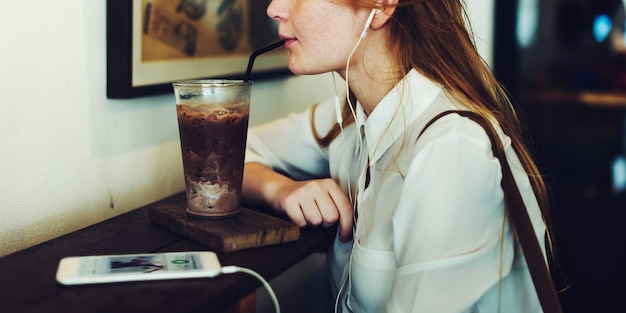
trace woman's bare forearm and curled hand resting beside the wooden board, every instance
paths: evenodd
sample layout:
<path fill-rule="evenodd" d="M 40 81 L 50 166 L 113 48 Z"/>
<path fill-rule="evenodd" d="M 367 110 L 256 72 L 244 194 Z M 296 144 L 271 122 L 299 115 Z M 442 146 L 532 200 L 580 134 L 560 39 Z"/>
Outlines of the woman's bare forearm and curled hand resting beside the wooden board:
<path fill-rule="evenodd" d="M 330 227 L 339 222 L 340 239 L 346 242 L 352 237 L 352 205 L 330 178 L 294 181 L 251 163 L 245 166 L 242 193 L 245 201 L 268 204 L 299 227 Z"/>

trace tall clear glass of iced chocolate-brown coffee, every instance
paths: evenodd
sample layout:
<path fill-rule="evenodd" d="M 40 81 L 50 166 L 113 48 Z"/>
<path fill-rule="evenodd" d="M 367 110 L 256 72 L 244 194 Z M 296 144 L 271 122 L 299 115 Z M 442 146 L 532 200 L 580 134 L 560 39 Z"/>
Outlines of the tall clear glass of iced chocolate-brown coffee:
<path fill-rule="evenodd" d="M 241 211 L 251 83 L 200 82 L 205 86 L 198 86 L 197 92 L 189 82 L 184 86 L 187 89 L 182 89 L 185 83 L 174 84 L 187 213 L 206 218 L 234 216 Z"/>

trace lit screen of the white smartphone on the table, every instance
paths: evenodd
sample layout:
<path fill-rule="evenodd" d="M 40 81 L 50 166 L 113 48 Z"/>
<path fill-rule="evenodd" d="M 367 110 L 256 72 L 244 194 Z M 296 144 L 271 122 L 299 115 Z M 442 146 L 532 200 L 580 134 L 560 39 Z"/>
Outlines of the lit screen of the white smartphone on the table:
<path fill-rule="evenodd" d="M 78 275 L 141 275 L 202 269 L 200 254 L 197 252 L 132 254 L 81 258 Z"/>

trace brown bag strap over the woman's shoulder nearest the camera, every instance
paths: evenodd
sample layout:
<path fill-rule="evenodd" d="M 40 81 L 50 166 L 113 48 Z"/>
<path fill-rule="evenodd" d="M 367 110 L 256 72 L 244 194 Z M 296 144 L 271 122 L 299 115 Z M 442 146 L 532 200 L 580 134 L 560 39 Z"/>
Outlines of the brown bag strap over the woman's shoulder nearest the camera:
<path fill-rule="evenodd" d="M 433 117 L 428 123 L 426 123 L 417 138 L 419 139 L 419 137 L 424 133 L 426 128 L 432 125 L 436 120 L 452 113 L 459 114 L 463 117 L 467 117 L 475 121 L 485 129 L 487 136 L 489 136 L 493 155 L 498 158 L 498 160 L 500 161 L 500 166 L 502 168 L 501 185 L 502 189 L 504 190 L 505 205 L 506 208 L 508 208 L 509 218 L 513 223 L 515 233 L 517 234 L 518 240 L 522 247 L 522 251 L 524 252 L 524 257 L 526 258 L 526 263 L 528 264 L 530 276 L 532 277 L 533 284 L 535 285 L 535 290 L 537 291 L 537 296 L 539 297 L 541 307 L 546 313 L 561 313 L 561 304 L 559 302 L 556 289 L 552 282 L 548 266 L 545 262 L 544 254 L 542 252 L 541 246 L 539 245 L 539 241 L 535 236 L 535 231 L 530 222 L 530 217 L 528 216 L 528 212 L 526 211 L 526 205 L 522 200 L 519 188 L 517 187 L 515 178 L 511 173 L 509 163 L 506 160 L 504 148 L 502 147 L 502 143 L 500 142 L 500 137 L 498 137 L 498 135 L 496 134 L 493 125 L 484 117 L 474 112 L 449 110 L 439 113 L 438 115 Z"/>

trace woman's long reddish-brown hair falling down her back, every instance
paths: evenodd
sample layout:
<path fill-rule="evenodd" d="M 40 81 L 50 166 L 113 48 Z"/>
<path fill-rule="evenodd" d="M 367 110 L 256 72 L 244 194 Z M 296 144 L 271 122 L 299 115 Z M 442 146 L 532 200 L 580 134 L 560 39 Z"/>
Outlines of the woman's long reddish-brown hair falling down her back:
<path fill-rule="evenodd" d="M 372 9 L 381 4 L 373 0 L 336 0 L 355 9 Z M 383 0 L 384 1 L 384 0 Z M 512 141 L 543 213 L 547 227 L 547 246 L 556 261 L 554 235 L 549 214 L 546 185 L 525 144 L 520 120 L 506 90 L 480 57 L 463 0 L 398 0 L 388 21 L 387 46 L 395 61 L 394 69 L 407 73 L 416 69 L 443 86 L 447 94 L 469 110 L 498 122 Z M 353 97 L 352 94 L 350 96 Z M 355 103 L 355 101 L 351 101 Z M 350 109 L 344 106 L 344 117 Z M 350 121 L 345 121 L 346 124 Z M 339 134 L 339 126 L 323 137 L 328 145 Z M 317 134 L 316 134 L 317 135 Z"/>

